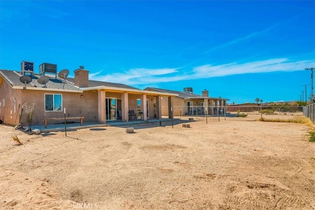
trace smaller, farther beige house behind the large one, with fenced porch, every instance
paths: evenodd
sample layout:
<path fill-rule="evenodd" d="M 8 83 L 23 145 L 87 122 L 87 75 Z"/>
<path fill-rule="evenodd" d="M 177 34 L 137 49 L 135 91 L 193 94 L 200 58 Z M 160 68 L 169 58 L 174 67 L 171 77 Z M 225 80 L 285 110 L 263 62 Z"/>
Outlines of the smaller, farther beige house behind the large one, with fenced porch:
<path fill-rule="evenodd" d="M 192 88 L 184 88 L 184 91 L 165 90 L 159 88 L 146 88 L 145 90 L 161 93 L 177 94 L 171 98 L 163 98 L 162 107 L 170 109 L 173 104 L 174 116 L 195 116 L 195 115 L 218 115 L 224 114 L 226 101 L 229 99 L 221 97 L 209 97 L 209 91 L 202 91 L 202 95 L 192 92 Z M 168 115 L 167 109 L 162 109 L 162 115 Z"/>

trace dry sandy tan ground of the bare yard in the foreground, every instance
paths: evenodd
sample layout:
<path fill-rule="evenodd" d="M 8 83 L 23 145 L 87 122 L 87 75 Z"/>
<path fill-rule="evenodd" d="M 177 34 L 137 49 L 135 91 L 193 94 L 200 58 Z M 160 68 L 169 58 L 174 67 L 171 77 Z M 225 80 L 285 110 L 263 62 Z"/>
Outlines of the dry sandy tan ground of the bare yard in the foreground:
<path fill-rule="evenodd" d="M 190 128 L 179 120 L 173 128 L 148 123 L 133 125 L 134 133 L 90 128 L 68 137 L 2 124 L 0 209 L 314 210 L 309 127 L 259 117 Z"/>

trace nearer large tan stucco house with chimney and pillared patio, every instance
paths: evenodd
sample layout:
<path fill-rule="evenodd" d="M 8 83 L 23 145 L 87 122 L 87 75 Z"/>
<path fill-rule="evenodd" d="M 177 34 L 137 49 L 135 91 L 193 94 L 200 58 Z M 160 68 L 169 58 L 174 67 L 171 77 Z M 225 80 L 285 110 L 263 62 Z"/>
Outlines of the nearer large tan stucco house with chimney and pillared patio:
<path fill-rule="evenodd" d="M 32 82 L 23 84 L 20 81 L 23 74 L 31 77 Z M 66 117 L 84 117 L 84 121 L 100 124 L 106 120 L 161 119 L 161 97 L 177 96 L 124 84 L 91 81 L 84 66 L 74 71 L 74 78 L 64 80 L 57 72 L 50 74 L 45 85 L 38 83 L 44 75 L 0 70 L 0 120 L 15 125 L 22 116 L 21 121 L 27 124 L 25 111 L 32 110 L 32 124 L 42 124 L 43 119 L 63 117 L 64 109 Z"/>

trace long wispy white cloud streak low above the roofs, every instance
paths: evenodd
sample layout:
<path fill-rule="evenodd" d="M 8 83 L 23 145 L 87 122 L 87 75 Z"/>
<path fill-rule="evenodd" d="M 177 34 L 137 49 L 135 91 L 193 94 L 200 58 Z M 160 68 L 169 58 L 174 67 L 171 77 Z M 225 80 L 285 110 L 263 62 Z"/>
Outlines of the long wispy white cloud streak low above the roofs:
<path fill-rule="evenodd" d="M 92 73 L 90 74 L 90 79 L 141 86 L 148 84 L 153 85 L 163 82 L 204 79 L 235 74 L 296 71 L 304 70 L 306 67 L 314 65 L 315 60 L 295 61 L 282 58 L 247 63 L 226 63 L 221 65 L 206 64 L 194 67 L 192 71 L 189 69 L 189 71 L 185 71 L 184 68 L 132 68 L 122 73 L 113 73 L 105 76 L 101 76 L 101 72 Z"/>

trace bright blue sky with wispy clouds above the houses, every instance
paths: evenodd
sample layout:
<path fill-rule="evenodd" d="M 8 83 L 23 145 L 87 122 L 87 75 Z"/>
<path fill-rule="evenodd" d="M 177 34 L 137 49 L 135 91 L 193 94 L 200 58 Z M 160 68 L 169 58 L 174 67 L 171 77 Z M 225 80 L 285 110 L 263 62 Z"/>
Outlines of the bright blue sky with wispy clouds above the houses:
<path fill-rule="evenodd" d="M 92 80 L 206 89 L 230 103 L 300 100 L 315 67 L 315 1 L 1 0 L 0 68 L 22 60 L 36 73 L 48 62 L 73 77 L 84 65 Z"/>

